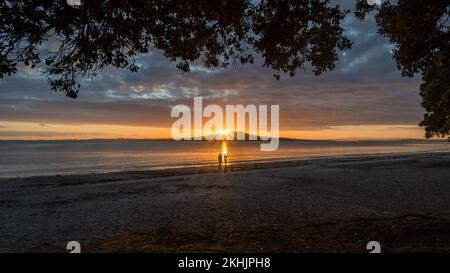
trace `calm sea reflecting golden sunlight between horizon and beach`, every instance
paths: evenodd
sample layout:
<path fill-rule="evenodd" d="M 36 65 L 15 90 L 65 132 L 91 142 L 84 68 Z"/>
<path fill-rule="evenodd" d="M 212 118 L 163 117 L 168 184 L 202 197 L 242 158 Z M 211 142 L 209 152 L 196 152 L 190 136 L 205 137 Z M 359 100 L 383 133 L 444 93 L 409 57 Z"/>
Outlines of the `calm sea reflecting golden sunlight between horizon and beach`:
<path fill-rule="evenodd" d="M 434 141 L 282 141 L 275 152 L 257 142 L 227 145 L 231 164 L 325 156 L 449 151 Z M 0 141 L 0 177 L 25 177 L 216 164 L 221 142 L 173 141 Z"/>

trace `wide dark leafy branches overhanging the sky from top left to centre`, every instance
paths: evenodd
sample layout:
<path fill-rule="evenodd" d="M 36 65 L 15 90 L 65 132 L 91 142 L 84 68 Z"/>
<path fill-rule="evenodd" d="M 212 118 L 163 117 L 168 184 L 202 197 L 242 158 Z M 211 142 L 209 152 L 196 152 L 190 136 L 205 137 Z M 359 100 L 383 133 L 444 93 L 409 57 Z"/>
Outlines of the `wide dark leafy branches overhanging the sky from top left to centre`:
<path fill-rule="evenodd" d="M 161 49 L 182 71 L 249 63 L 294 75 L 310 63 L 330 70 L 336 50 L 350 48 L 340 22 L 345 12 L 323 0 L 103 0 L 0 2 L 0 77 L 17 64 L 43 67 L 51 88 L 76 98 L 78 79 L 105 66 L 138 70 L 135 57 Z M 40 46 L 47 43 L 50 52 Z"/>

